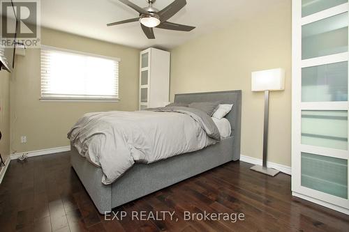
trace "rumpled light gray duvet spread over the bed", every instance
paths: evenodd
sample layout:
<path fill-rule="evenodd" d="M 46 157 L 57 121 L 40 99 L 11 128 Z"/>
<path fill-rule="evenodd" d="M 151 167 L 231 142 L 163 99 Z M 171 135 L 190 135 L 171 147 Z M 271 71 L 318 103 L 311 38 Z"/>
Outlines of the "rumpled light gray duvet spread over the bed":
<path fill-rule="evenodd" d="M 156 162 L 215 144 L 218 129 L 207 118 L 181 109 L 90 113 L 68 138 L 80 155 L 103 169 L 102 183 L 108 185 L 135 162 Z"/>

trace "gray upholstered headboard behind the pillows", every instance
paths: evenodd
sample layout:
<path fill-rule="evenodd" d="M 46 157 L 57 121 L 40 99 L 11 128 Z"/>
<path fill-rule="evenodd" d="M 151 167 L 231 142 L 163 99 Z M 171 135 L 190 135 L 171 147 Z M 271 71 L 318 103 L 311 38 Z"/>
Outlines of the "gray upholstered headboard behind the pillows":
<path fill-rule="evenodd" d="M 235 152 L 240 154 L 241 141 L 241 114 L 242 114 L 242 91 L 221 91 L 209 93 L 183 93 L 174 95 L 174 102 L 216 102 L 221 104 L 233 104 L 232 111 L 225 116 L 232 126 Z"/>

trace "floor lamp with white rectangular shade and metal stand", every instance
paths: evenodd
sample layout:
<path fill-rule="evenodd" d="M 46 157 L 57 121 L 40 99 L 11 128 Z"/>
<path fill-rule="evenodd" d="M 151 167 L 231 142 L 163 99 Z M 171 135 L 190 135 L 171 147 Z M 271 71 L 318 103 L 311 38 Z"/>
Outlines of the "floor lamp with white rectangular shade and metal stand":
<path fill-rule="evenodd" d="M 263 134 L 263 164 L 251 167 L 251 170 L 276 176 L 279 171 L 267 167 L 268 126 L 269 126 L 269 91 L 283 91 L 285 89 L 285 70 L 276 68 L 252 72 L 252 91 L 265 92 L 264 134 Z"/>

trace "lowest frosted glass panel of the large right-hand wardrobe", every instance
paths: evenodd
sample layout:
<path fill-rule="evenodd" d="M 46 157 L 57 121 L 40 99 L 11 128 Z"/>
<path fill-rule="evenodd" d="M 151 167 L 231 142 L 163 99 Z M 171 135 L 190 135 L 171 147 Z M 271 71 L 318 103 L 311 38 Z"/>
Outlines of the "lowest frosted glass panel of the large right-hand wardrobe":
<path fill-rule="evenodd" d="M 302 153 L 301 185 L 348 199 L 348 160 Z"/>

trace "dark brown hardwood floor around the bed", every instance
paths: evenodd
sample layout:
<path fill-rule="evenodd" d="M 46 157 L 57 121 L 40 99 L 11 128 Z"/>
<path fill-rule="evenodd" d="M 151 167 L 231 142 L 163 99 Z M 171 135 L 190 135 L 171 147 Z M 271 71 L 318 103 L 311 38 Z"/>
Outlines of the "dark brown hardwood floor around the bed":
<path fill-rule="evenodd" d="M 0 185 L 0 231 L 349 231 L 349 216 L 290 194 L 290 176 L 275 178 L 231 162 L 128 203 L 122 220 L 98 214 L 69 154 L 11 161 Z M 178 221 L 131 220 L 131 212 L 175 211 Z M 244 221 L 186 221 L 184 212 L 244 213 Z"/>

